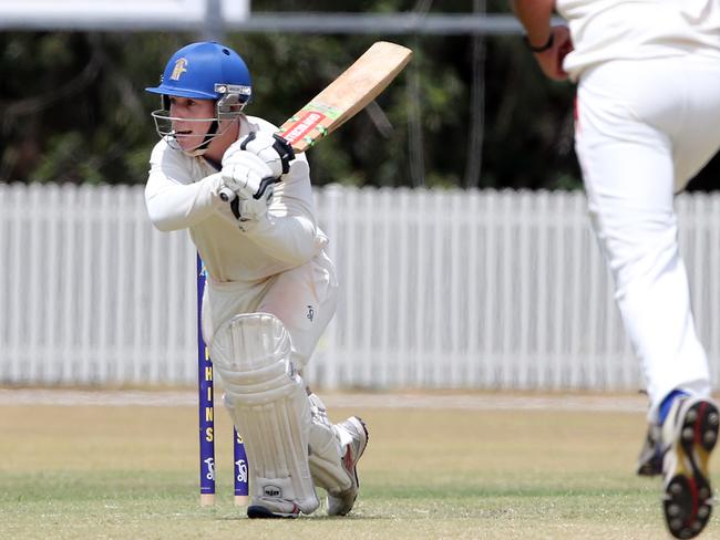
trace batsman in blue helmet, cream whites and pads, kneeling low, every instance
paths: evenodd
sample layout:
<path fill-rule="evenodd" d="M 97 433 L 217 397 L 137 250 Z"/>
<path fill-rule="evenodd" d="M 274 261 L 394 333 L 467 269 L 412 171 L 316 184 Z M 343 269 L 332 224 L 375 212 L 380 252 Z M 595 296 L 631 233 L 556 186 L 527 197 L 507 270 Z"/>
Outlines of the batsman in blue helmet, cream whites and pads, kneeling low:
<path fill-rule="evenodd" d="M 277 127 L 243 113 L 250 73 L 219 43 L 182 48 L 167 62 L 152 116 L 147 212 L 163 231 L 187 229 L 205 262 L 202 328 L 246 445 L 249 518 L 296 518 L 319 506 L 344 516 L 368 444 L 352 416 L 331 424 L 301 378 L 332 318 L 338 284 L 325 252 L 304 154 Z"/>

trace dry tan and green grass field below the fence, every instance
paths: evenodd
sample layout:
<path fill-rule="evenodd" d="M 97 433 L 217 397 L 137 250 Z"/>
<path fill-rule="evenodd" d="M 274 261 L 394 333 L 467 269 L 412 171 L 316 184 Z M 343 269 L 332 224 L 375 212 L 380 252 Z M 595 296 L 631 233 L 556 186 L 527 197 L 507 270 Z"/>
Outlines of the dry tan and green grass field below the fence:
<path fill-rule="evenodd" d="M 233 506 L 224 411 L 218 502 L 200 508 L 195 407 L 0 405 L 0 538 L 668 538 L 659 480 L 632 474 L 641 413 L 330 414 L 370 429 L 351 516 L 250 521 Z M 720 538 L 716 519 L 702 538 Z"/>

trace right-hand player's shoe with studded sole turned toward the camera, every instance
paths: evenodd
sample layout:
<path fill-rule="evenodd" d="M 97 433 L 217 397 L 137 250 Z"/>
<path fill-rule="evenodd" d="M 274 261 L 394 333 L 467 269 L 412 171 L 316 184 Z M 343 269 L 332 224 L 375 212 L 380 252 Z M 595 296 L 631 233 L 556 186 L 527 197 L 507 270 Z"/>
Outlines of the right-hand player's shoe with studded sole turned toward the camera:
<path fill-rule="evenodd" d="M 662 509 L 675 538 L 698 536 L 710 519 L 712 488 L 708 460 L 720 415 L 707 397 L 677 397 L 662 424 Z"/>

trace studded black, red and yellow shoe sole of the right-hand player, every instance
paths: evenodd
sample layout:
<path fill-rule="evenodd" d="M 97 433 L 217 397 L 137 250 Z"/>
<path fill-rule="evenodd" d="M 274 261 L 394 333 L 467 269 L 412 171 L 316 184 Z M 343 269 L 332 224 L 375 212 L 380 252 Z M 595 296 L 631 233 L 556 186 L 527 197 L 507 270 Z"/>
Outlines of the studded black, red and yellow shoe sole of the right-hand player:
<path fill-rule="evenodd" d="M 708 459 L 718 440 L 718 407 L 699 399 L 688 407 L 673 444 L 676 469 L 665 488 L 665 520 L 675 538 L 698 536 L 712 513 Z"/>

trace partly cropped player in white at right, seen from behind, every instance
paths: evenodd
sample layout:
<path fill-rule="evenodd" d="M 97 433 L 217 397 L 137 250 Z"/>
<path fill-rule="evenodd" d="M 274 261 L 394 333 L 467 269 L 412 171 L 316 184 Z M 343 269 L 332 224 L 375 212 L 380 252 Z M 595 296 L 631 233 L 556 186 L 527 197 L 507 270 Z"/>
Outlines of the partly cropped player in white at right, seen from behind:
<path fill-rule="evenodd" d="M 720 147 L 720 0 L 512 3 L 543 72 L 577 82 L 575 148 L 592 224 L 650 399 L 638 474 L 662 476 L 667 527 L 693 538 L 712 510 L 719 416 L 673 195 Z M 569 28 L 551 27 L 554 9 Z"/>

